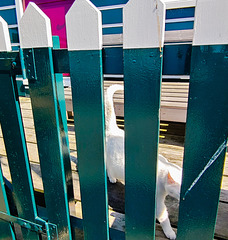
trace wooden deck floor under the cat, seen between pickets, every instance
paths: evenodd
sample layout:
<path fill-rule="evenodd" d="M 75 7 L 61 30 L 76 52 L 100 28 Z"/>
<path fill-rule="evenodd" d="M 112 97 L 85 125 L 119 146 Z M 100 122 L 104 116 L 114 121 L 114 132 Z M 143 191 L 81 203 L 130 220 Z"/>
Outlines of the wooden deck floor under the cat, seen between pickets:
<path fill-rule="evenodd" d="M 166 101 L 164 97 L 164 101 Z M 42 192 L 42 178 L 41 171 L 39 166 L 39 156 L 36 145 L 36 136 L 34 130 L 34 123 L 32 117 L 32 109 L 29 98 L 20 98 L 23 123 L 25 127 L 25 135 L 27 140 L 27 147 L 29 153 L 29 159 L 31 162 L 32 177 L 34 188 Z M 69 130 L 69 141 L 70 141 L 70 151 L 71 151 L 71 164 L 73 171 L 73 180 L 74 180 L 74 194 L 76 199 L 76 215 L 81 217 L 81 203 L 80 203 L 80 187 L 78 173 L 76 170 L 76 141 L 74 126 L 72 123 L 68 123 Z M 167 157 L 171 162 L 182 166 L 183 159 L 183 143 L 177 142 L 168 139 L 161 139 L 159 144 L 159 152 Z M 0 130 L 0 160 L 1 166 L 4 175 L 7 179 L 10 180 L 10 173 L 7 163 L 6 152 L 4 148 L 4 142 L 2 138 L 2 133 Z M 216 224 L 215 238 L 218 239 L 228 239 L 228 228 L 227 228 L 227 219 L 228 219 L 228 160 L 226 160 L 226 165 L 224 169 L 224 176 L 222 182 L 222 192 L 220 196 L 219 210 L 218 210 L 218 219 Z M 113 228 L 124 231 L 124 185 L 121 183 L 110 184 L 108 183 L 108 192 L 109 192 L 109 209 L 110 209 L 110 225 Z M 167 198 L 167 205 L 170 214 L 170 219 L 173 227 L 177 226 L 178 222 L 178 202 L 171 197 Z M 78 238 L 80 239 L 80 238 Z M 160 225 L 156 226 L 156 239 L 165 240 L 164 234 L 161 231 Z"/>

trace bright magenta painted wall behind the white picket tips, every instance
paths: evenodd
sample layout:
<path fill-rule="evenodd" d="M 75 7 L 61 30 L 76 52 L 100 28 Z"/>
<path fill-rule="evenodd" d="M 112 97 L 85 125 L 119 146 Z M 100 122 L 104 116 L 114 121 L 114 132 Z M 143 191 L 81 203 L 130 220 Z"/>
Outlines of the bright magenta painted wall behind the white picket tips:
<path fill-rule="evenodd" d="M 24 0 L 24 6 L 29 2 L 36 3 L 51 19 L 52 35 L 59 36 L 61 48 L 67 48 L 65 15 L 74 0 Z"/>

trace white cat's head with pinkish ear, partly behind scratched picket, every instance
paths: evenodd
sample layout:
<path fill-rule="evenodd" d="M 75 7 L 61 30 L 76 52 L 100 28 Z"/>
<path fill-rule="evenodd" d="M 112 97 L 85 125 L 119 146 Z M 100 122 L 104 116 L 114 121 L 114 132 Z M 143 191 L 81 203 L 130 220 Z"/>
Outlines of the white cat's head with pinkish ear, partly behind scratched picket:
<path fill-rule="evenodd" d="M 165 189 L 168 195 L 180 199 L 180 190 L 181 190 L 181 178 L 182 171 L 181 170 L 168 170 L 168 174 L 166 177 Z"/>

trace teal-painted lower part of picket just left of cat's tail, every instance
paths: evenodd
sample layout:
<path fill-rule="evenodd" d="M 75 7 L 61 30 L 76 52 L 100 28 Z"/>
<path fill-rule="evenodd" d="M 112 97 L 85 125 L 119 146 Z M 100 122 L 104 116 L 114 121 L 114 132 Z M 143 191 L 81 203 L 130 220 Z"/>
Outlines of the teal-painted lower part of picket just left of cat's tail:
<path fill-rule="evenodd" d="M 107 240 L 102 52 L 70 51 L 69 61 L 84 236 Z"/>

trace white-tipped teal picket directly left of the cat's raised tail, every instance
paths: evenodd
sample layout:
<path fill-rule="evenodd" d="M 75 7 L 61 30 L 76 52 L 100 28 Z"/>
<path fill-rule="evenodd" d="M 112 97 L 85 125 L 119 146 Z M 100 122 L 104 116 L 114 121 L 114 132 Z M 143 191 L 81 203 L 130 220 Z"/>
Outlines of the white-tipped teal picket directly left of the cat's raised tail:
<path fill-rule="evenodd" d="M 101 13 L 77 0 L 66 15 L 85 239 L 109 239 L 104 162 Z"/>

